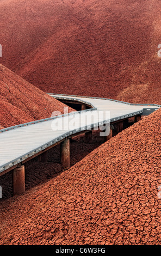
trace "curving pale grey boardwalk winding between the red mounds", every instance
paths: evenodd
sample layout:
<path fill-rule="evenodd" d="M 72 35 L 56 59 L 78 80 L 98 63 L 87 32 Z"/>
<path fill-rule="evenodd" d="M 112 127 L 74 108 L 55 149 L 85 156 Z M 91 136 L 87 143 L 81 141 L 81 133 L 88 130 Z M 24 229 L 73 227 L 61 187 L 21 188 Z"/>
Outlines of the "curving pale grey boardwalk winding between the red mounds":
<path fill-rule="evenodd" d="M 147 115 L 161 107 L 159 105 L 134 105 L 95 97 L 50 95 L 58 100 L 79 102 L 84 110 L 0 130 L 0 175 L 12 169 L 22 170 L 21 166 L 24 162 L 44 154 L 45 151 L 59 143 L 62 144 L 61 162 L 64 169 L 67 169 L 70 167 L 69 138 L 79 133 L 88 135 L 92 129 L 101 127 L 103 124 L 122 124 L 123 120 L 133 116 Z M 85 109 L 84 106 L 90 108 Z M 69 120 L 72 125 L 69 125 Z"/>

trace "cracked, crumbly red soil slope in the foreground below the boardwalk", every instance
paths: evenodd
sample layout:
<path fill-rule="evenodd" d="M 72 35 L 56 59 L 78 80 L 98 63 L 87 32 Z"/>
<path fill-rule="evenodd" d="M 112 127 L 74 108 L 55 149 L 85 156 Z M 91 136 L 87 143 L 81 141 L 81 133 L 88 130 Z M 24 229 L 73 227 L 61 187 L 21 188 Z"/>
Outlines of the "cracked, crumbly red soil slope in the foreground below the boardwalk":
<path fill-rule="evenodd" d="M 0 243 L 159 245 L 160 125 L 158 110 L 55 179 L 3 202 Z"/>

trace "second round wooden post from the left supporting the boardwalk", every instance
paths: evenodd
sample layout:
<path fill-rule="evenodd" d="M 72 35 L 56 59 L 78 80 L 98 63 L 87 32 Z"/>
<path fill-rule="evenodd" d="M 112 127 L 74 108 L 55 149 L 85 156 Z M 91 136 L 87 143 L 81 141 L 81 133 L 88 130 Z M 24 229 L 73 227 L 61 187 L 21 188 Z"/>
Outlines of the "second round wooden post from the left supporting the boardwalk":
<path fill-rule="evenodd" d="M 70 168 L 70 139 L 65 139 L 65 141 L 60 144 L 61 151 L 61 164 L 64 170 Z"/>

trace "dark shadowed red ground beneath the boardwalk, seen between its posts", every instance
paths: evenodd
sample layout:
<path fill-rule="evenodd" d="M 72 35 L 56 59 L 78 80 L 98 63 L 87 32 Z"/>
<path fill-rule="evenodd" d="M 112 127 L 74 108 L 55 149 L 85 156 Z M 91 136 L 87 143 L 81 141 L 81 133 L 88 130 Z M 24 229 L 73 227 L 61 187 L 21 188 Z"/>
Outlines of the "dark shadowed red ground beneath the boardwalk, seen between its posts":
<path fill-rule="evenodd" d="M 85 142 L 84 135 L 74 137 L 70 142 L 70 166 L 82 160 L 103 142 L 104 138 L 99 136 L 98 131 L 95 131 L 90 144 Z M 35 157 L 24 164 L 26 191 L 38 184 L 47 182 L 63 171 L 63 166 L 60 164 L 60 145 L 49 150 L 47 154 L 48 162 L 46 163 L 38 162 L 37 157 Z M 9 172 L 0 176 L 3 199 L 13 197 L 12 174 Z"/>

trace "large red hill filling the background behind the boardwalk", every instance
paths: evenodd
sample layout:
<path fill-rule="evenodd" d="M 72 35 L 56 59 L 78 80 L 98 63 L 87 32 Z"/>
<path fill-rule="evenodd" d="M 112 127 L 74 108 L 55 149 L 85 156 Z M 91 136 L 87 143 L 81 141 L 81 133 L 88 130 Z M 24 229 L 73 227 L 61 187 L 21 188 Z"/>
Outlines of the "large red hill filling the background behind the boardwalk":
<path fill-rule="evenodd" d="M 2 64 L 45 92 L 161 103 L 157 0 L 1 1 Z"/>

